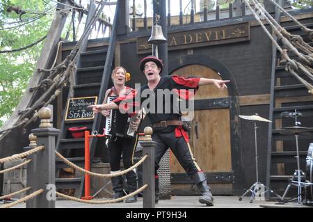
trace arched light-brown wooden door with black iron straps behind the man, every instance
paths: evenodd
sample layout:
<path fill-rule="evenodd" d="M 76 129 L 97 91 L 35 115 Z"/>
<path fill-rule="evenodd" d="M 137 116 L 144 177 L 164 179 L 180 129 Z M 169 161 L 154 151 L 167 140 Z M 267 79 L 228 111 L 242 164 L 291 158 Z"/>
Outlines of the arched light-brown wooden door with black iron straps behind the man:
<path fill-rule="evenodd" d="M 172 74 L 221 79 L 216 71 L 203 65 L 188 65 Z M 185 116 L 190 121 L 189 143 L 193 157 L 206 173 L 214 194 L 232 194 L 230 102 L 227 89 L 219 90 L 214 85 L 201 86 L 194 100 L 193 115 L 189 113 Z M 172 194 L 198 193 L 172 153 L 170 171 Z"/>

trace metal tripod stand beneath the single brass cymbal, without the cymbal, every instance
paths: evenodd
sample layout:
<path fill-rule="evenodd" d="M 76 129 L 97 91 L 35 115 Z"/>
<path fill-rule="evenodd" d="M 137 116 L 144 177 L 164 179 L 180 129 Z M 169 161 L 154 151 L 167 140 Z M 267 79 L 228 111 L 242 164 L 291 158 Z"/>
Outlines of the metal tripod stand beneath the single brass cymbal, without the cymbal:
<path fill-rule="evenodd" d="M 255 121 L 254 121 L 255 122 Z M 250 203 L 252 203 L 253 199 L 255 198 L 256 193 L 259 193 L 259 191 L 261 190 L 261 187 L 264 187 L 264 189 L 266 189 L 264 191 L 264 193 L 270 191 L 271 193 L 275 194 L 275 196 L 277 196 L 278 198 L 282 199 L 281 196 L 279 196 L 277 193 L 275 193 L 274 191 L 272 191 L 271 189 L 269 189 L 268 187 L 266 187 L 264 184 L 262 184 L 261 182 L 259 182 L 259 172 L 258 172 L 258 156 L 257 156 L 257 123 L 255 122 L 255 173 L 257 175 L 257 182 L 255 182 L 254 184 L 252 184 L 252 186 L 247 189 L 243 195 L 239 198 L 239 200 L 242 200 L 243 196 L 246 196 L 246 194 L 248 192 L 251 192 L 251 196 L 250 196 Z M 263 194 L 264 194 L 263 193 Z M 262 193 L 259 193 L 259 196 L 261 196 Z"/>

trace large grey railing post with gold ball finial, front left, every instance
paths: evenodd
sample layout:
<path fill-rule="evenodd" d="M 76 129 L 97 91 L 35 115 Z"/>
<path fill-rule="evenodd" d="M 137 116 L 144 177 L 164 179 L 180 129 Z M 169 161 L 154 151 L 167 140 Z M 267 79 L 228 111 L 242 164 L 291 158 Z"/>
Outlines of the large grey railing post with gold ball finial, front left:
<path fill-rule="evenodd" d="M 38 129 L 33 129 L 37 136 L 37 145 L 45 145 L 45 149 L 33 154 L 29 168 L 27 168 L 27 185 L 31 187 L 28 194 L 44 189 L 45 191 L 26 202 L 28 208 L 54 208 L 56 184 L 56 136 L 60 130 L 54 129 L 50 123 L 51 110 L 47 107 L 40 109 L 41 123 Z M 49 185 L 49 187 L 47 187 Z M 49 190 L 47 190 L 49 188 Z"/>

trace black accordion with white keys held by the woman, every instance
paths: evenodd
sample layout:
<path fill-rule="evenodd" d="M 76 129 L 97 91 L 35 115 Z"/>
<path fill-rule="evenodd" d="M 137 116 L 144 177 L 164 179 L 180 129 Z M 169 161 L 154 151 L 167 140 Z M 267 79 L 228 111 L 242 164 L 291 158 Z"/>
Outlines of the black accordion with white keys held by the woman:
<path fill-rule="evenodd" d="M 107 103 L 115 100 L 116 97 L 108 97 Z M 107 136 L 134 137 L 137 129 L 130 127 L 130 123 L 136 116 L 129 117 L 128 114 L 122 114 L 118 109 L 111 109 L 111 114 L 106 118 L 105 132 Z"/>

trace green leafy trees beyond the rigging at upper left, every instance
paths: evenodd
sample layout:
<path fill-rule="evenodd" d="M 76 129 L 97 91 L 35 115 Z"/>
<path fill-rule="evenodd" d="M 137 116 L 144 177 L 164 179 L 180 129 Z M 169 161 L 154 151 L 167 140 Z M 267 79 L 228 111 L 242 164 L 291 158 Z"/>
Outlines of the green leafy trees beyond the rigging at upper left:
<path fill-rule="evenodd" d="M 54 5 L 53 2 L 38 0 L 2 0 L 0 51 L 31 45 L 47 35 Z M 0 53 L 0 127 L 19 103 L 42 46 L 43 42 L 40 42 L 22 51 Z"/>

